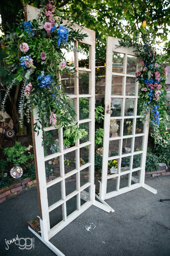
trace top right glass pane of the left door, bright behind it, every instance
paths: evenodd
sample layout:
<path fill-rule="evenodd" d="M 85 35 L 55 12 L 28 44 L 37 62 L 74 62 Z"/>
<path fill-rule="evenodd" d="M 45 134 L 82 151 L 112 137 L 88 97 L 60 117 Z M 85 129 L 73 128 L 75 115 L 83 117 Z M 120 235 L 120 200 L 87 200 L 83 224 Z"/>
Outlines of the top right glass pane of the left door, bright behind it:
<path fill-rule="evenodd" d="M 79 67 L 89 68 L 89 46 L 79 43 L 78 49 Z"/>

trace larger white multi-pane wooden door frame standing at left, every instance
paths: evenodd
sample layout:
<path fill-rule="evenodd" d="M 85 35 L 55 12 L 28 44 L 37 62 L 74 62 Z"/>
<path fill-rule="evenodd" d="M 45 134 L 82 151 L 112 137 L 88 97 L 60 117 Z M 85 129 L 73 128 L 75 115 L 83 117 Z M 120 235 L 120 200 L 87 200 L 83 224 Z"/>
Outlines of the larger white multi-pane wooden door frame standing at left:
<path fill-rule="evenodd" d="M 26 19 L 33 20 L 37 18 L 38 12 L 40 10 L 26 5 Z M 63 20 L 65 24 L 65 20 Z M 81 27 L 75 25 L 76 29 L 82 29 Z M 94 204 L 107 212 L 113 209 L 109 207 L 104 201 L 103 204 L 95 200 L 95 185 L 94 185 L 94 132 L 95 132 L 95 32 L 90 29 L 83 28 L 83 32 L 88 34 L 85 40 L 74 42 L 74 67 L 76 67 L 76 75 L 74 77 L 74 93 L 69 95 L 69 100 L 72 100 L 74 104 L 76 116 L 75 122 L 78 125 L 87 124 L 89 127 L 88 141 L 81 143 L 79 140 L 75 143 L 75 146 L 71 148 L 64 148 L 63 145 L 63 128 L 60 131 L 54 127 L 44 128 L 44 131 L 54 131 L 55 136 L 57 135 L 57 140 L 59 143 L 59 151 L 53 154 L 45 155 L 45 147 L 42 147 L 42 131 L 39 130 L 40 134 L 34 133 L 33 131 L 33 144 L 34 144 L 34 158 L 36 167 L 36 177 L 37 177 L 37 190 L 39 198 L 39 208 L 40 208 L 40 228 L 41 236 L 37 235 L 30 227 L 29 229 L 33 232 L 41 241 L 43 241 L 51 250 L 57 255 L 63 255 L 53 244 L 50 243 L 51 239 L 55 234 L 57 234 L 62 228 L 67 226 L 71 221 L 77 218 L 82 212 L 84 212 L 88 207 Z M 89 67 L 81 68 L 79 67 L 78 51 L 79 43 L 88 45 L 89 47 Z M 88 72 L 89 77 L 89 91 L 88 94 L 83 94 L 79 90 L 79 73 Z M 61 78 L 62 79 L 62 78 Z M 72 89 L 71 89 L 72 90 Z M 89 116 L 85 119 L 79 119 L 79 101 L 80 99 L 88 98 L 89 106 Z M 37 110 L 34 108 L 34 114 L 31 117 L 31 123 L 34 124 L 37 118 Z M 39 126 L 41 127 L 40 123 Z M 80 166 L 80 153 L 84 152 L 82 148 L 88 151 L 88 163 Z M 49 151 L 48 151 L 49 152 Z M 75 155 L 75 169 L 70 172 L 65 172 L 65 155 L 72 153 Z M 57 159 L 59 160 L 57 160 Z M 45 166 L 49 161 L 59 162 L 59 177 L 46 183 L 46 173 Z M 74 159 L 73 159 L 74 160 Z M 51 161 L 51 162 L 52 162 Z M 55 162 L 56 163 L 56 162 Z M 89 180 L 87 183 L 81 186 L 80 175 L 81 172 L 86 169 L 88 170 Z M 75 175 L 76 187 L 72 192 L 68 192 L 66 185 L 69 184 L 69 178 Z M 54 186 L 56 190 L 56 198 L 49 198 L 51 188 Z M 58 198 L 58 194 L 61 193 L 61 198 Z M 83 197 L 84 195 L 84 197 Z M 81 205 L 81 198 L 84 198 L 84 204 Z M 86 201 L 86 202 L 85 202 Z M 50 204 L 50 205 L 49 205 Z M 76 209 L 70 211 L 69 205 L 76 204 Z M 61 216 L 56 214 L 56 210 L 61 209 Z M 54 211 L 54 214 L 53 214 Z M 50 215 L 56 216 L 57 224 L 55 221 L 51 223 Z M 51 215 L 52 216 L 52 215 Z"/>

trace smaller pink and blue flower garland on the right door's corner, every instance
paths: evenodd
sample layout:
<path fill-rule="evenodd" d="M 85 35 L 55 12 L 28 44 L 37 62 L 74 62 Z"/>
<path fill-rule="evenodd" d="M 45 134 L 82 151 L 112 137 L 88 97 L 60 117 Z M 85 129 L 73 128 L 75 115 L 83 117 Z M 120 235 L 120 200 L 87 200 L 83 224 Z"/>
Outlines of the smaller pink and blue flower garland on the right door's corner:
<path fill-rule="evenodd" d="M 143 35 L 139 38 L 121 40 L 117 47 L 133 47 L 139 62 L 139 71 L 136 72 L 136 81 L 139 81 L 139 100 L 142 100 L 142 117 L 146 117 L 151 111 L 153 134 L 158 134 L 160 119 L 164 116 L 165 98 L 167 92 L 164 89 L 167 68 L 161 68 L 161 55 L 157 54 L 156 48 L 150 39 Z"/>

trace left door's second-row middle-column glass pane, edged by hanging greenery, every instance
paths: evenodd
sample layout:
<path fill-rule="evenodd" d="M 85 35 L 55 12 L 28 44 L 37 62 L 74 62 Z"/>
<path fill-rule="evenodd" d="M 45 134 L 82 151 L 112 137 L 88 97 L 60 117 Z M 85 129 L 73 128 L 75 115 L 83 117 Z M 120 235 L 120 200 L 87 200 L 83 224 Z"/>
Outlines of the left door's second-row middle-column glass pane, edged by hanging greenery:
<path fill-rule="evenodd" d="M 67 95 L 74 95 L 74 76 L 69 76 L 68 73 L 63 72 L 61 83 Z"/>

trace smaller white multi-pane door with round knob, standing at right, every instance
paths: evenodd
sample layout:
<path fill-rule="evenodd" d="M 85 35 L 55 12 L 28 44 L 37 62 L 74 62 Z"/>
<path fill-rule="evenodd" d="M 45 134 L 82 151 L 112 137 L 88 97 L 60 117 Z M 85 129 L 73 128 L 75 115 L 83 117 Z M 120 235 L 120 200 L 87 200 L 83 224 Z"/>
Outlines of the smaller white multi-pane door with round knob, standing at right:
<path fill-rule="evenodd" d="M 139 115 L 135 49 L 117 48 L 119 40 L 107 38 L 102 200 L 141 186 L 156 193 L 144 184 L 149 126 Z"/>

